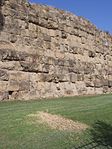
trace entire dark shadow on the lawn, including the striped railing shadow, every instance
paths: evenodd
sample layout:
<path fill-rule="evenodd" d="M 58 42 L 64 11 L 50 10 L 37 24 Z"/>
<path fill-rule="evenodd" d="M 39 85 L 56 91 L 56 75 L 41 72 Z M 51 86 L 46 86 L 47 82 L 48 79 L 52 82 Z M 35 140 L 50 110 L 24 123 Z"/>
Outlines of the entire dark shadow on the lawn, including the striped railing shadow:
<path fill-rule="evenodd" d="M 89 130 L 88 140 L 72 149 L 112 149 L 112 125 L 97 121 Z"/>

